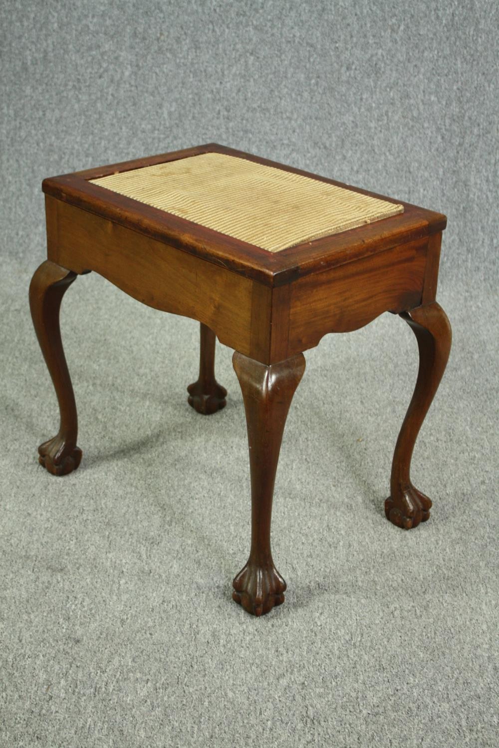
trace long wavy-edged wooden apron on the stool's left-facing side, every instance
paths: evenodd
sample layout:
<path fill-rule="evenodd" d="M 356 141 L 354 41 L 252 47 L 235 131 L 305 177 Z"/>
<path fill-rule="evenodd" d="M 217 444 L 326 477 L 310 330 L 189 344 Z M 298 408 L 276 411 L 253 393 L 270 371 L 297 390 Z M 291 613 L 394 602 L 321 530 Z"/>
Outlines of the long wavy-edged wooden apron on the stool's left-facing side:
<path fill-rule="evenodd" d="M 197 319 L 221 343 L 250 354 L 248 278 L 52 197 L 46 207 L 50 260 L 77 273 L 95 270 L 143 304 Z"/>

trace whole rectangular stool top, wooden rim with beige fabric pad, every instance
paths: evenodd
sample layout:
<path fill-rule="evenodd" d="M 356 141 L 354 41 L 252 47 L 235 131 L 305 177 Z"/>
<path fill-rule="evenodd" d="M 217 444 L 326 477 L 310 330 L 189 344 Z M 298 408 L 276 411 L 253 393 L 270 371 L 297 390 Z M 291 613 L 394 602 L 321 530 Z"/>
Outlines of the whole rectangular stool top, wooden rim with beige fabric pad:
<path fill-rule="evenodd" d="M 268 286 L 447 223 L 441 213 L 215 143 L 49 177 L 42 188 Z"/>

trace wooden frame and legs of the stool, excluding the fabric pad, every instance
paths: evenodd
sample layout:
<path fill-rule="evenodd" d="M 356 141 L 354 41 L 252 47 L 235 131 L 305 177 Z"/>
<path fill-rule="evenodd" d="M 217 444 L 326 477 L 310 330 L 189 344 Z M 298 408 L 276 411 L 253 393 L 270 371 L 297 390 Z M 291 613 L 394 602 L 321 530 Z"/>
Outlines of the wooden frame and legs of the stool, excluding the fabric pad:
<path fill-rule="evenodd" d="M 373 194 L 402 203 L 404 212 L 272 253 L 89 181 L 209 152 Z M 188 388 L 198 412 L 213 413 L 225 404 L 226 391 L 215 380 L 215 337 L 236 351 L 250 446 L 252 539 L 248 563 L 234 580 L 234 599 L 246 610 L 261 615 L 284 600 L 285 583 L 270 551 L 270 518 L 282 432 L 303 374 L 303 352 L 325 334 L 356 330 L 386 311 L 411 325 L 420 350 L 386 513 L 406 529 L 428 518 L 431 502 L 411 484 L 409 468 L 450 349 L 450 326 L 435 301 L 444 215 L 218 144 L 51 177 L 43 191 L 48 259 L 31 281 L 30 303 L 61 411 L 58 435 L 40 447 L 47 470 L 64 475 L 82 456 L 58 316 L 76 275 L 94 270 L 150 307 L 200 322 L 200 375 Z"/>

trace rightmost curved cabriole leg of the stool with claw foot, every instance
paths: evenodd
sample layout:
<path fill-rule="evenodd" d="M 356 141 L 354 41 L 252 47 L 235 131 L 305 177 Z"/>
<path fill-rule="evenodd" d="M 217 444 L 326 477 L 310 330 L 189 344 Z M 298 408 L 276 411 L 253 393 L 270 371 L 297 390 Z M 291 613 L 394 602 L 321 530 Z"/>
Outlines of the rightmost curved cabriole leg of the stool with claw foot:
<path fill-rule="evenodd" d="M 447 315 L 436 301 L 400 316 L 417 338 L 420 365 L 414 395 L 395 447 L 391 495 L 385 501 L 385 514 L 397 527 L 410 530 L 429 519 L 432 506 L 431 500 L 414 488 L 409 473 L 417 435 L 447 366 L 452 333 Z"/>

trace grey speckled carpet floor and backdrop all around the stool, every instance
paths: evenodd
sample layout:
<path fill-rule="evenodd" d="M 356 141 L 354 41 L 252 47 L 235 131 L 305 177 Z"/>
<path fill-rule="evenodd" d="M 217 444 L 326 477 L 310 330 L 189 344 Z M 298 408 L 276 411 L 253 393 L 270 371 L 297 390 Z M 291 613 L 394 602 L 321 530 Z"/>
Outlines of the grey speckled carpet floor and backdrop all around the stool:
<path fill-rule="evenodd" d="M 495 746 L 497 75 L 493 2 L 4 2 L 1 746 Z M 64 300 L 81 468 L 36 448 L 55 396 L 28 316 L 43 177 L 206 141 L 445 212 L 453 325 L 414 453 L 429 523 L 385 521 L 417 371 L 390 315 L 306 353 L 273 547 L 284 606 L 233 604 L 248 554 L 242 397 L 195 414 L 198 325 L 96 274 Z"/>

